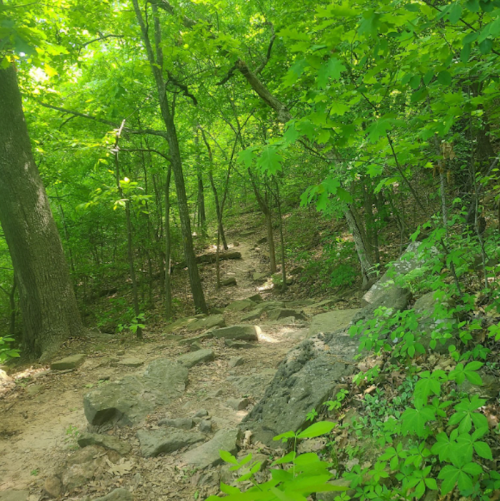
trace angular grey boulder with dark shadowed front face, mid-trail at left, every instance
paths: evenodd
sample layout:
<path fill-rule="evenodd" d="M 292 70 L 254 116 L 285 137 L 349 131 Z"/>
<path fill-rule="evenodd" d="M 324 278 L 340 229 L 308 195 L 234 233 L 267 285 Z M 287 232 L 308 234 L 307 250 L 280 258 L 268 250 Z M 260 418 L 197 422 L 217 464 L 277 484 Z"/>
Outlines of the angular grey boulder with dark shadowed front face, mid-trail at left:
<path fill-rule="evenodd" d="M 128 426 L 140 422 L 159 405 L 167 405 L 184 392 L 188 369 L 169 359 L 157 359 L 144 375 L 127 376 L 84 396 L 85 416 L 93 426 L 107 423 Z"/>

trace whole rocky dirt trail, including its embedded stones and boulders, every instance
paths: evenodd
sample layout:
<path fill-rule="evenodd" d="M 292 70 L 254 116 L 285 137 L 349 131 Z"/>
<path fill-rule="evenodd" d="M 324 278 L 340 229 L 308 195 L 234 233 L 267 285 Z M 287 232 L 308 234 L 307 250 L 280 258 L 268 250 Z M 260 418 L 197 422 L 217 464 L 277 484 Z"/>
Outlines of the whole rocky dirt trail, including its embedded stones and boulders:
<path fill-rule="evenodd" d="M 145 332 L 142 343 L 94 333 L 50 368 L 5 378 L 1 501 L 204 499 L 234 480 L 220 449 L 266 463 L 272 437 L 299 429 L 345 383 L 357 352 L 347 326 L 395 296 L 402 303 L 401 291 L 381 289 L 361 311 L 287 300 L 248 240 L 241 259 L 221 262 L 237 285 L 207 291 L 223 310 Z"/>

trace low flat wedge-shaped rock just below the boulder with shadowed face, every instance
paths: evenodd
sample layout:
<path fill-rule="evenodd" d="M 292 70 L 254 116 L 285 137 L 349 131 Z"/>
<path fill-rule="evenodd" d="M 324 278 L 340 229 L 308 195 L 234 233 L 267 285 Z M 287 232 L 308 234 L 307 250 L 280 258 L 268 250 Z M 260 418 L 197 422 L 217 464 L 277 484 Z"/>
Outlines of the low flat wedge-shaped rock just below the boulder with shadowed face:
<path fill-rule="evenodd" d="M 174 452 L 205 440 L 202 433 L 182 431 L 175 428 L 139 430 L 137 438 L 141 444 L 141 454 L 146 458 L 156 457 L 162 452 Z"/>

